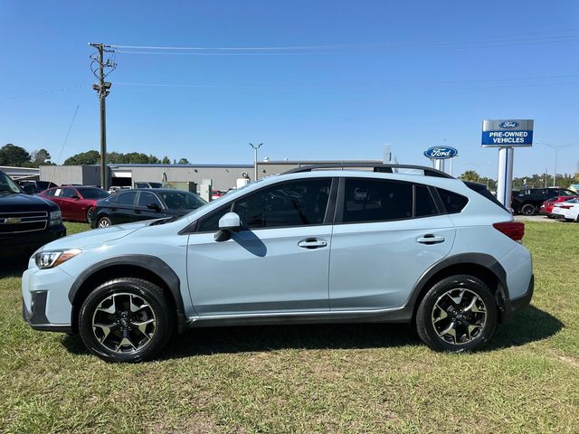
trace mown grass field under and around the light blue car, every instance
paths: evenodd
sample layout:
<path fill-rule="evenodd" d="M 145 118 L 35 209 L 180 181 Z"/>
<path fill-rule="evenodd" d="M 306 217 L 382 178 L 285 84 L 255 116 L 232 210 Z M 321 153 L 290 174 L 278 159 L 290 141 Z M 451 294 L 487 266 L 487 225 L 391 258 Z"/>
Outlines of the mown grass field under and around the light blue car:
<path fill-rule="evenodd" d="M 69 233 L 86 225 L 69 224 Z M 198 329 L 108 364 L 24 324 L 0 278 L 0 432 L 579 432 L 579 224 L 528 222 L 532 306 L 476 354 L 402 325 Z"/>

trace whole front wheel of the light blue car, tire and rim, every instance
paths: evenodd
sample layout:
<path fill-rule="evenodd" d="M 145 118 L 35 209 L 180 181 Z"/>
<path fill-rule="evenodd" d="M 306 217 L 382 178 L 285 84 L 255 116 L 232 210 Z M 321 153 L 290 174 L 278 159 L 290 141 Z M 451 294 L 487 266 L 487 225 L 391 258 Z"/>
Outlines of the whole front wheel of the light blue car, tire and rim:
<path fill-rule="evenodd" d="M 82 342 L 107 362 L 150 360 L 173 333 L 174 313 L 168 306 L 163 290 L 147 280 L 109 280 L 82 303 Z"/>

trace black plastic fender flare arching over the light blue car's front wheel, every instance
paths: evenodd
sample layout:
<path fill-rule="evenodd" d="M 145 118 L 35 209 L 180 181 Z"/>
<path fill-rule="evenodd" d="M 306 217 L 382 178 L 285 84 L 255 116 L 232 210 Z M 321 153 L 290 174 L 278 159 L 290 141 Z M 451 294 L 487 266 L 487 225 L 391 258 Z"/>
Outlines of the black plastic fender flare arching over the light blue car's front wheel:
<path fill-rule="evenodd" d="M 132 265 L 147 269 L 156 274 L 158 278 L 165 282 L 166 287 L 171 292 L 176 304 L 176 316 L 179 332 L 183 330 L 185 325 L 185 305 L 181 295 L 181 282 L 175 271 L 169 267 L 165 261 L 150 255 L 121 255 L 117 257 L 107 258 L 92 264 L 88 269 L 81 272 L 78 278 L 74 281 L 69 291 L 69 300 L 71 305 L 74 305 L 74 300 L 82 287 L 84 282 L 90 278 L 94 273 L 101 269 L 106 269 L 111 266 L 118 265 Z M 72 309 L 74 312 L 74 309 Z M 74 318 L 72 318 L 74 319 Z"/>

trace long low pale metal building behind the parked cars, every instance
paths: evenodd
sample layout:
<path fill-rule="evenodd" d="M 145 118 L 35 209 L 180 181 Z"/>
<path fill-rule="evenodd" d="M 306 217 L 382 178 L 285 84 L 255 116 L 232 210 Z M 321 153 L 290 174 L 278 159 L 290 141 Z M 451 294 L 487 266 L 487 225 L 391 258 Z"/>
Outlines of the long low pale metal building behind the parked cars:
<path fill-rule="evenodd" d="M 302 165 L 379 164 L 382 160 L 351 161 L 262 161 L 258 178 L 277 175 Z M 211 179 L 214 190 L 235 187 L 239 178 L 253 179 L 253 165 L 108 165 L 109 185 L 128 186 L 138 182 L 194 182 Z M 100 165 L 43 165 L 40 179 L 55 184 L 100 185 Z"/>

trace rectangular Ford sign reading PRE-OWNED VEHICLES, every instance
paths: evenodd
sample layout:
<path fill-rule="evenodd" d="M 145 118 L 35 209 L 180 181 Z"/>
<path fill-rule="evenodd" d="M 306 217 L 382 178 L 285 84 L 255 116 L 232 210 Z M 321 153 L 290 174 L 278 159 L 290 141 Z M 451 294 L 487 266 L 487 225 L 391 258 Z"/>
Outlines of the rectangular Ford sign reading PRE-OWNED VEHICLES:
<path fill-rule="evenodd" d="M 482 147 L 533 146 L 533 119 L 482 121 Z"/>

